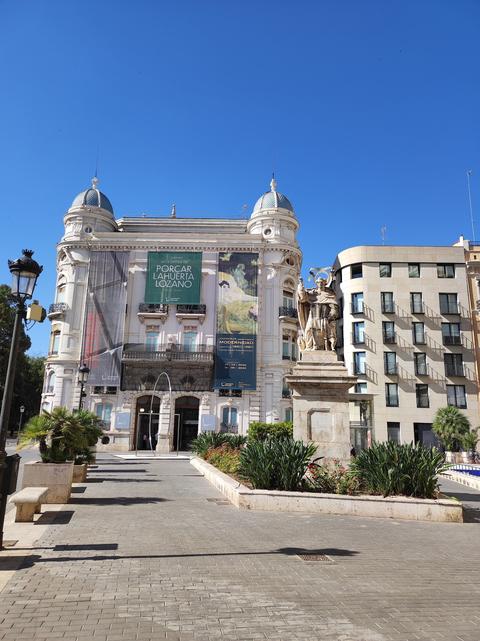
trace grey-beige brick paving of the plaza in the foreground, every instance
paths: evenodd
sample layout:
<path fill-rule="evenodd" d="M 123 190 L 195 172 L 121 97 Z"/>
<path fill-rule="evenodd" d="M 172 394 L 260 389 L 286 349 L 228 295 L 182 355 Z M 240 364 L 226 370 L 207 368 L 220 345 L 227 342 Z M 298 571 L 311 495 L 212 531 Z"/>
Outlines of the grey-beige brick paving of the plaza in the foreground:
<path fill-rule="evenodd" d="M 480 639 L 478 522 L 238 511 L 186 461 L 90 477 L 1 592 L 0 639 Z"/>

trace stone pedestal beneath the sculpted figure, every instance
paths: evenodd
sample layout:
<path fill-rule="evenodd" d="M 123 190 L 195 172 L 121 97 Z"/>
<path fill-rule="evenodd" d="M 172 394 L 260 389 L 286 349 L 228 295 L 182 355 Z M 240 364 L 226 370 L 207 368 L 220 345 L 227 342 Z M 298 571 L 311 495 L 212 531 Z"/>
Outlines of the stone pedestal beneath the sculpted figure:
<path fill-rule="evenodd" d="M 293 400 L 293 436 L 317 445 L 316 456 L 324 462 L 350 461 L 348 390 L 357 381 L 350 376 L 335 352 L 302 353 L 291 374 L 285 377 Z"/>

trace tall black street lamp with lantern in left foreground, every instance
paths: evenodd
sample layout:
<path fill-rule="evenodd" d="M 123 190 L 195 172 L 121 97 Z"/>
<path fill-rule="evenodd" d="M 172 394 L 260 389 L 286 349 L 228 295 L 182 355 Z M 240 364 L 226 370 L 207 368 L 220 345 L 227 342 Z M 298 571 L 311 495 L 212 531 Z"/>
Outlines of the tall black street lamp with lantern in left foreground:
<path fill-rule="evenodd" d="M 41 267 L 32 258 L 33 251 L 24 249 L 23 255 L 17 260 L 9 260 L 8 268 L 12 274 L 12 297 L 16 303 L 15 322 L 13 324 L 12 339 L 10 342 L 10 355 L 8 358 L 7 376 L 3 388 L 2 409 L 0 413 L 0 549 L 3 547 L 3 522 L 5 520 L 5 508 L 7 504 L 8 478 L 7 453 L 5 451 L 7 442 L 8 422 L 10 409 L 12 407 L 13 384 L 15 380 L 15 369 L 17 365 L 18 339 L 22 323 L 25 318 L 25 303 L 31 299 L 37 284 L 37 278 L 42 273 Z"/>

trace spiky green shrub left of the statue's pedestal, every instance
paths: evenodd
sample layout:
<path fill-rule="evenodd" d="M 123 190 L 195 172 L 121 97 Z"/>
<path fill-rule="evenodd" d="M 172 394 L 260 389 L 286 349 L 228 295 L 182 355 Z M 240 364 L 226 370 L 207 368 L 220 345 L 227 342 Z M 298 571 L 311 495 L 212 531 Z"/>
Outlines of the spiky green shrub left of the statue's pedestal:
<path fill-rule="evenodd" d="M 249 440 L 240 453 L 238 473 L 256 489 L 298 490 L 315 451 L 313 443 L 293 438 Z"/>

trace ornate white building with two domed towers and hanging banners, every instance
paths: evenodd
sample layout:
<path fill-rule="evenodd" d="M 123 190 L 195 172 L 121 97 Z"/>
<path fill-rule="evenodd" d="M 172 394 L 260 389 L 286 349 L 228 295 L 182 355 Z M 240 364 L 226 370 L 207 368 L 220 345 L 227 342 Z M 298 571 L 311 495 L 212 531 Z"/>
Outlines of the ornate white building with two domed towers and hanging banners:
<path fill-rule="evenodd" d="M 199 430 L 291 419 L 302 255 L 275 180 L 241 220 L 115 219 L 97 182 L 57 245 L 42 409 L 82 400 L 114 450 L 184 449 Z"/>

